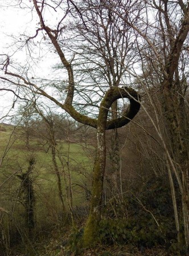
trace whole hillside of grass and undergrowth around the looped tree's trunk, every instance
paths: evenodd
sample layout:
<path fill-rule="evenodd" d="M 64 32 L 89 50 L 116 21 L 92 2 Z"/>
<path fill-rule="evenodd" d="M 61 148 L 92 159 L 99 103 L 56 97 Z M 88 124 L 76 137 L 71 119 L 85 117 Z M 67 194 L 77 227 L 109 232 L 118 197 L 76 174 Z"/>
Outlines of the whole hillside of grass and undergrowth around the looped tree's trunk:
<path fill-rule="evenodd" d="M 172 210 L 169 192 L 159 187 L 161 178 L 159 181 L 154 180 L 155 183 L 152 180 L 146 183 L 140 195 L 136 191 L 139 181 L 138 185 L 135 183 L 130 186 L 130 192 L 124 195 L 124 202 L 120 201 L 118 194 L 114 194 L 114 201 L 107 185 L 104 196 L 109 201 L 102 208 L 101 221 L 101 242 L 104 246 L 83 251 L 79 249 L 79 243 L 89 212 L 95 148 L 86 141 L 71 143 L 68 139 L 57 139 L 54 158 L 50 142 L 44 137 L 36 137 L 34 133 L 26 146 L 21 127 L 14 129 L 14 126 L 1 124 L 0 129 L 0 155 L 3 157 L 0 169 L 0 207 L 3 209 L 2 223 L 8 225 L 3 232 L 6 239 L 9 234 L 12 256 L 21 256 L 22 251 L 27 251 L 27 255 L 31 256 L 34 252 L 43 256 L 77 255 L 79 252 L 86 256 L 157 255 L 154 254 L 157 252 L 158 255 L 167 255 L 162 246 L 165 246 L 165 242 L 161 230 L 167 233 L 164 225 Z M 123 134 L 120 133 L 121 136 Z M 109 134 L 107 139 L 110 139 Z M 129 163 L 133 165 L 132 157 L 133 153 L 127 162 L 128 166 Z M 107 162 L 107 166 L 110 166 L 110 162 Z M 126 180 L 123 183 L 125 190 L 128 190 L 127 175 L 130 174 L 125 173 L 123 176 Z M 106 179 L 108 181 L 108 177 Z M 148 190 L 153 187 L 153 191 L 149 193 L 147 187 Z M 156 197 L 157 193 L 161 193 L 158 194 L 161 201 Z M 134 197 L 139 197 L 138 202 Z M 150 197 L 153 197 L 155 206 L 151 205 Z M 140 200 L 145 206 L 139 207 Z M 162 205 L 163 201 L 169 202 L 166 209 Z M 123 215 L 125 213 L 126 218 Z M 169 221 L 172 222 L 172 218 Z M 161 225 L 160 230 L 156 222 Z M 147 223 L 150 223 L 148 227 Z M 65 234 L 62 235 L 62 232 Z M 35 245 L 35 249 L 30 243 Z M 6 240 L 1 240 L 0 244 L 5 246 Z"/>

